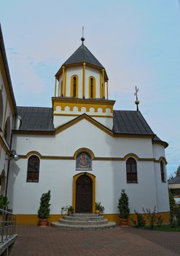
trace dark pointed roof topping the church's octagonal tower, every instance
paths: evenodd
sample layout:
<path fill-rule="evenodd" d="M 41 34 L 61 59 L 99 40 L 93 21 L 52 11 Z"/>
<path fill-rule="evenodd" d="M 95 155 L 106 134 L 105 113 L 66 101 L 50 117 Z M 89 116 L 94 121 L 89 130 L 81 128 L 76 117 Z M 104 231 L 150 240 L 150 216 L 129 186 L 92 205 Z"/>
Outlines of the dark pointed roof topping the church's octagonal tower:
<path fill-rule="evenodd" d="M 64 62 L 63 65 L 69 64 L 77 64 L 86 62 L 88 64 L 93 64 L 95 66 L 101 67 L 103 69 L 103 65 L 93 56 L 90 50 L 82 43 L 81 46 Z"/>

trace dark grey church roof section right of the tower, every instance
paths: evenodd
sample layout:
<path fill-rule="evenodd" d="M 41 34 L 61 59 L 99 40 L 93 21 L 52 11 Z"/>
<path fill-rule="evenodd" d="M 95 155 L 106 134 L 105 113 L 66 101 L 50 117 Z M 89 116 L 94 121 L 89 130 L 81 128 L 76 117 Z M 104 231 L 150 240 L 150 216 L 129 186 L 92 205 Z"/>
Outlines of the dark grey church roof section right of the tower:
<path fill-rule="evenodd" d="M 139 111 L 114 110 L 112 130 L 117 134 L 154 135 Z"/>

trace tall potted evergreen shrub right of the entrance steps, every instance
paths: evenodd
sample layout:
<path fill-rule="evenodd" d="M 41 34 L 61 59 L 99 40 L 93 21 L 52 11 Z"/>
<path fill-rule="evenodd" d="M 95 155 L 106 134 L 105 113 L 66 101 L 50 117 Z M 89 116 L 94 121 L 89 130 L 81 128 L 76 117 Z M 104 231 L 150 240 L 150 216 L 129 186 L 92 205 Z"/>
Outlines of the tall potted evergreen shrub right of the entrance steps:
<path fill-rule="evenodd" d="M 121 225 L 128 226 L 130 209 L 128 195 L 125 193 L 125 189 L 122 189 L 117 208 L 120 212 Z"/>

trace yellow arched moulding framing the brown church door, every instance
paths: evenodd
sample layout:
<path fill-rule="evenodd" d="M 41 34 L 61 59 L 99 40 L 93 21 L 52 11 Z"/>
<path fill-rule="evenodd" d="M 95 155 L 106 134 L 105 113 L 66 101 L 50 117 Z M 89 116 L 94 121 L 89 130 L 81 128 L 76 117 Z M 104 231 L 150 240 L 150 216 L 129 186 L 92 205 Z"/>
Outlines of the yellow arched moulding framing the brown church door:
<path fill-rule="evenodd" d="M 77 179 L 80 176 L 88 176 L 90 180 L 92 181 L 92 206 L 93 206 L 93 213 L 95 213 L 95 176 L 91 173 L 78 173 L 73 176 L 73 207 L 76 211 L 76 193 L 77 193 Z"/>

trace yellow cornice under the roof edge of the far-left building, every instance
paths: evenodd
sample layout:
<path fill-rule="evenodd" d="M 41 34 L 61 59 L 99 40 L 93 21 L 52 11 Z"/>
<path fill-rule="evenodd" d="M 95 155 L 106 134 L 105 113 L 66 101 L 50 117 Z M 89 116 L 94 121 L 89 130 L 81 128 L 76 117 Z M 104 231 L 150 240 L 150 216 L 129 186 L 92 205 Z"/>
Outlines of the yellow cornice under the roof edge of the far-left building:
<path fill-rule="evenodd" d="M 14 108 L 11 93 L 10 93 L 10 90 L 9 90 L 9 84 L 8 84 L 8 81 L 7 81 L 7 73 L 6 73 L 5 68 L 4 68 L 4 62 L 3 62 L 3 59 L 2 59 L 2 55 L 1 55 L 1 50 L 0 50 L 0 70 L 1 70 L 2 80 L 4 82 L 4 87 L 5 87 L 5 90 L 7 92 L 7 98 L 8 98 L 9 106 L 10 106 L 10 109 L 12 111 L 12 116 L 15 116 L 15 108 Z"/>

